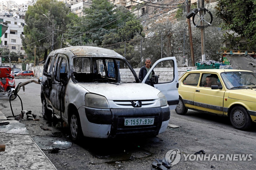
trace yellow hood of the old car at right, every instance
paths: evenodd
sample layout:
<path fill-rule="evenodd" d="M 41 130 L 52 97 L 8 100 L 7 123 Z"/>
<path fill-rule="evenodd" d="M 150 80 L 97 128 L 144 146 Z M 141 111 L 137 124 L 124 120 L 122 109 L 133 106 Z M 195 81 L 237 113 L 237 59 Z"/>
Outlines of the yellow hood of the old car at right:
<path fill-rule="evenodd" d="M 229 92 L 229 98 L 256 102 L 256 90 L 255 89 L 232 90 Z"/>

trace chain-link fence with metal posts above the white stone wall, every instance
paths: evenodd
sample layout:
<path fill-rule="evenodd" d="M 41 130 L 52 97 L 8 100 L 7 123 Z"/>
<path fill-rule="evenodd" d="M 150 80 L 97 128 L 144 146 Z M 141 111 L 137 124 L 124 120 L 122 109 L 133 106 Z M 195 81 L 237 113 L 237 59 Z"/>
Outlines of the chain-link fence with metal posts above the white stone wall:
<path fill-rule="evenodd" d="M 201 33 L 198 28 L 192 29 L 195 63 L 201 60 Z M 223 31 L 216 27 L 205 28 L 205 52 L 207 60 L 220 61 L 221 35 Z M 184 41 L 185 40 L 185 41 Z M 211 40 L 211 41 L 208 41 Z M 152 63 L 164 57 L 176 57 L 178 66 L 192 66 L 188 30 L 178 30 L 169 34 L 157 35 L 130 42 L 105 46 L 124 56 L 133 68 L 145 64 L 146 58 Z"/>

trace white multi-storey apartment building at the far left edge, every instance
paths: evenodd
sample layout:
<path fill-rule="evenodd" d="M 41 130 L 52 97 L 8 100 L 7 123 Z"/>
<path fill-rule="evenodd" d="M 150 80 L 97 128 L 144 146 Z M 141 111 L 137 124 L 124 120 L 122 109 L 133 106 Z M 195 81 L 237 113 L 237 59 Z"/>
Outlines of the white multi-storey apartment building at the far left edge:
<path fill-rule="evenodd" d="M 18 19 L 16 17 L 3 17 L 0 16 L 0 22 L 8 26 L 7 31 L 3 34 L 0 47 L 9 49 L 10 52 L 25 53 L 22 47 L 22 41 L 20 34 L 24 35 L 23 28 L 25 25 L 24 19 Z"/>

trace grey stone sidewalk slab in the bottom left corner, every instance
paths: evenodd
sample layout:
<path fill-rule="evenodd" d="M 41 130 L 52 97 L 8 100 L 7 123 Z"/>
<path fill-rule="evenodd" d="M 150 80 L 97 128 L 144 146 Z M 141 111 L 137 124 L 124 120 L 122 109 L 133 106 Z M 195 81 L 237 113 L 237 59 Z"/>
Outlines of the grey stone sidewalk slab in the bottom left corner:
<path fill-rule="evenodd" d="M 24 124 L 7 120 L 1 111 L 0 122 L 9 122 L 0 126 L 0 137 L 5 144 L 5 151 L 0 152 L 0 169 L 57 169 L 31 138 Z"/>

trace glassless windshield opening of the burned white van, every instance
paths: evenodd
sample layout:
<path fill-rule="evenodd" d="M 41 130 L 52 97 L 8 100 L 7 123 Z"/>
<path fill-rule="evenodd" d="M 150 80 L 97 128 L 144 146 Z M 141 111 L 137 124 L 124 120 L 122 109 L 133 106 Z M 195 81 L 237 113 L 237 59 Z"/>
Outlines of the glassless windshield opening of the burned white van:
<path fill-rule="evenodd" d="M 76 82 L 136 82 L 132 68 L 125 61 L 111 57 L 75 57 L 72 80 Z"/>

